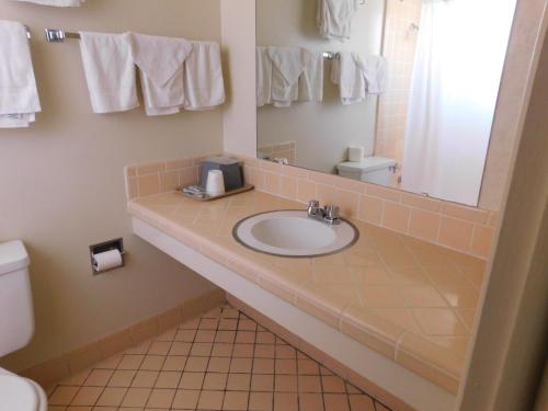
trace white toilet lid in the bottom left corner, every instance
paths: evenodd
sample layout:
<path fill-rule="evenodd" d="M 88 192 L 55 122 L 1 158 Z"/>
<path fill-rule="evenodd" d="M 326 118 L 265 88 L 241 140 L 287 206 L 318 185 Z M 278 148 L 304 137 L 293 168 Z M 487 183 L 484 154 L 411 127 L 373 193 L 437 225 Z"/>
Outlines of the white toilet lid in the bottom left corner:
<path fill-rule="evenodd" d="M 31 383 L 14 375 L 0 375 L 0 411 L 36 411 L 38 395 Z"/>

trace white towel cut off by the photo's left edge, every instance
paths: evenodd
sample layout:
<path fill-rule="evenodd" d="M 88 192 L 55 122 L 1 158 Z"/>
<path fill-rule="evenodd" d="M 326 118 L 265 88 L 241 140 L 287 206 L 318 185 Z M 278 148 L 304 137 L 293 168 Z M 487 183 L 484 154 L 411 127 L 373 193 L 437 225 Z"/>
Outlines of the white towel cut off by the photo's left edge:
<path fill-rule="evenodd" d="M 0 21 L 0 127 L 28 127 L 42 107 L 23 24 Z"/>

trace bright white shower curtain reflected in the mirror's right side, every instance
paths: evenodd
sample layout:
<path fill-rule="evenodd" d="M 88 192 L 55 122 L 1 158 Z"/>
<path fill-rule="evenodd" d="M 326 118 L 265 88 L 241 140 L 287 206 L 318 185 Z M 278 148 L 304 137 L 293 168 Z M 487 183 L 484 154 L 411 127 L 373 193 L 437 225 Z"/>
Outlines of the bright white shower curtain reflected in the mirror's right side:
<path fill-rule="evenodd" d="M 402 189 L 476 206 L 515 0 L 425 0 Z"/>

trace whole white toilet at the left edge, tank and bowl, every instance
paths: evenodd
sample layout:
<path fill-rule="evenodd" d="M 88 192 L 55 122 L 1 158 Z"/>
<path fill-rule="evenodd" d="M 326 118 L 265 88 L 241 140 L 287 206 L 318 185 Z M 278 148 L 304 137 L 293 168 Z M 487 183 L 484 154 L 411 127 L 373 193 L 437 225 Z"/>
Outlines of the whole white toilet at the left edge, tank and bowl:
<path fill-rule="evenodd" d="M 0 243 L 0 357 L 24 347 L 34 333 L 28 254 L 21 241 Z M 0 411 L 46 411 L 36 383 L 0 368 Z"/>

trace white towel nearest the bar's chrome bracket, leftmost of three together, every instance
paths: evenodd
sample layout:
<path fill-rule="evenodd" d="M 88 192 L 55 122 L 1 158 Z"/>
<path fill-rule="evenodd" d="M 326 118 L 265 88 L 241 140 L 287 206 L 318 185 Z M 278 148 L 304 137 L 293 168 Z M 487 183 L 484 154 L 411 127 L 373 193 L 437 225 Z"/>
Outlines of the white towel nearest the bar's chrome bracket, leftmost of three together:
<path fill-rule="evenodd" d="M 80 32 L 80 52 L 94 113 L 139 106 L 135 65 L 126 34 Z"/>

